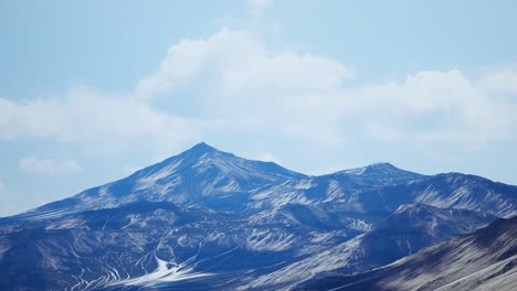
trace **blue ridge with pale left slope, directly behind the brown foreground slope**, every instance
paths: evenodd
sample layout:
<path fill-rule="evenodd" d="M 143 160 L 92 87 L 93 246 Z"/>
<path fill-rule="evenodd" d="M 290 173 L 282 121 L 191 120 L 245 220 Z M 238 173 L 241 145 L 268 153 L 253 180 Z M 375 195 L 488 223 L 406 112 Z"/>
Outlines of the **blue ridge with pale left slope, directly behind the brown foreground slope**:
<path fill-rule="evenodd" d="M 372 230 L 262 276 L 244 289 L 288 289 L 325 272 L 372 269 L 426 246 L 472 231 L 493 219 L 492 215 L 464 209 L 403 205 Z"/>

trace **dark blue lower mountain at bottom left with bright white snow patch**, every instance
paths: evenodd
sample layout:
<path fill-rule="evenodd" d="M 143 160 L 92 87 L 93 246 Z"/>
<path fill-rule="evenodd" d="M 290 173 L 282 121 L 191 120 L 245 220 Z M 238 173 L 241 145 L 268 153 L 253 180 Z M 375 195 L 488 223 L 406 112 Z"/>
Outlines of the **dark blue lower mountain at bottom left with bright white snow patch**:
<path fill-rule="evenodd" d="M 135 202 L 0 227 L 0 290 L 228 290 L 360 234 Z"/>

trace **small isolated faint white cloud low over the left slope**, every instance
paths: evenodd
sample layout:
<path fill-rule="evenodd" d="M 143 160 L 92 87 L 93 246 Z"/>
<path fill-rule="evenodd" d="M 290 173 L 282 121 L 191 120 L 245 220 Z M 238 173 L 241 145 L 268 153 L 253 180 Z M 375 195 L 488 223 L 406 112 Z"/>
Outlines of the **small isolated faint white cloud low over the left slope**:
<path fill-rule="evenodd" d="M 80 164 L 73 159 L 54 160 L 29 157 L 21 159 L 19 166 L 28 173 L 45 176 L 70 175 L 81 171 Z"/>

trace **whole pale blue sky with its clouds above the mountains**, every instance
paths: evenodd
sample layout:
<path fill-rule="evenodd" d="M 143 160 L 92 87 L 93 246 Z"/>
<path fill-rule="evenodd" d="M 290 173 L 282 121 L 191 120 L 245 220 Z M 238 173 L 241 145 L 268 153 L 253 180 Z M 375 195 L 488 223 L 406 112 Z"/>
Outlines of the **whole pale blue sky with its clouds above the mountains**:
<path fill-rule="evenodd" d="M 201 9 L 202 8 L 202 9 Z M 517 184 L 515 1 L 2 1 L 0 215 L 199 141 Z"/>

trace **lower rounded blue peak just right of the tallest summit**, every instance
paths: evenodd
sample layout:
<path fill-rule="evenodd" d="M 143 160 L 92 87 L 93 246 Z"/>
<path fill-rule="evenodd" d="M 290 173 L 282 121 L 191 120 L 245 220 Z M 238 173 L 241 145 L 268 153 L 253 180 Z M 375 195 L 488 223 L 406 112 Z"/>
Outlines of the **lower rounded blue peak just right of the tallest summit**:
<path fill-rule="evenodd" d="M 425 177 L 425 175 L 408 172 L 389 163 L 377 163 L 320 176 L 289 180 L 278 185 L 260 188 L 252 193 L 254 203 L 250 206 L 255 208 L 263 205 L 278 207 L 289 203 L 339 204 L 340 211 L 347 213 L 380 213 L 386 216 L 400 204 L 393 209 L 388 209 L 381 201 L 361 195 L 361 193 L 377 192 L 381 187 Z M 408 200 L 405 203 L 411 202 Z"/>

